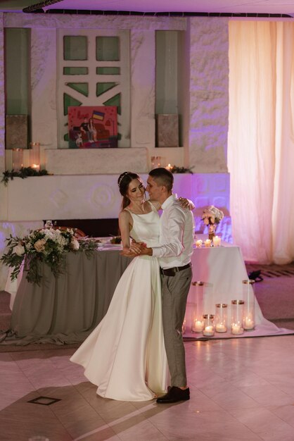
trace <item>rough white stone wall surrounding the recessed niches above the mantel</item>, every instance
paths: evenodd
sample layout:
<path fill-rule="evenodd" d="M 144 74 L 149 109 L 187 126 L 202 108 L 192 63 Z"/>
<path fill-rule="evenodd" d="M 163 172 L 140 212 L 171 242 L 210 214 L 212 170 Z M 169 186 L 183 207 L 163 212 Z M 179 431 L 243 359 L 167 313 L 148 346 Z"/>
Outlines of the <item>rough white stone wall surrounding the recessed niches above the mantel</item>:
<path fill-rule="evenodd" d="M 186 63 L 189 76 L 182 87 L 188 96 L 185 115 L 184 162 L 198 173 L 227 172 L 226 146 L 229 103 L 229 33 L 227 18 L 141 18 L 43 14 L 1 14 L 0 83 L 4 85 L 4 27 L 32 28 L 32 141 L 41 149 L 58 148 L 58 91 L 56 90 L 56 35 L 58 29 L 124 29 L 131 48 L 131 150 L 155 147 L 155 32 L 188 33 Z M 0 98 L 0 168 L 4 169 L 4 94 Z M 71 152 L 58 165 L 68 173 Z M 132 152 L 126 153 L 132 159 Z M 151 154 L 149 153 L 149 156 Z M 166 156 L 170 156 L 167 154 Z M 42 155 L 42 165 L 45 156 Z M 184 164 L 177 164 L 182 166 Z M 91 164 L 89 164 L 91 168 Z M 107 170 L 112 173 L 113 170 Z M 75 173 L 72 169 L 71 173 Z M 106 173 L 105 171 L 103 173 Z"/>

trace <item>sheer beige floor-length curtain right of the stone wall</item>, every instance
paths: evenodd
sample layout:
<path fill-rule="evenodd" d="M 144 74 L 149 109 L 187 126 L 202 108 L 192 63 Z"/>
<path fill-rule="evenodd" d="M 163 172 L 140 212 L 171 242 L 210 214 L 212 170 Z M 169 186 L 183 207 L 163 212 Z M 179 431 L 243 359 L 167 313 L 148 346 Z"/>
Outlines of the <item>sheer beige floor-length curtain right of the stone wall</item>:
<path fill-rule="evenodd" d="M 294 23 L 229 23 L 234 242 L 246 261 L 294 260 Z"/>

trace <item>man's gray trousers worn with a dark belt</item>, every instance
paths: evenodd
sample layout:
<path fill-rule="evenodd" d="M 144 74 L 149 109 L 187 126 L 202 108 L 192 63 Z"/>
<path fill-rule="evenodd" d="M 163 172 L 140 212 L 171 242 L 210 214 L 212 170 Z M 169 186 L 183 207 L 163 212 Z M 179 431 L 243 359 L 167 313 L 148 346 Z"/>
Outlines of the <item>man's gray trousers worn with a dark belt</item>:
<path fill-rule="evenodd" d="M 185 387 L 186 361 L 181 327 L 183 325 L 192 270 L 179 271 L 162 277 L 162 323 L 165 351 L 170 369 L 171 385 Z"/>

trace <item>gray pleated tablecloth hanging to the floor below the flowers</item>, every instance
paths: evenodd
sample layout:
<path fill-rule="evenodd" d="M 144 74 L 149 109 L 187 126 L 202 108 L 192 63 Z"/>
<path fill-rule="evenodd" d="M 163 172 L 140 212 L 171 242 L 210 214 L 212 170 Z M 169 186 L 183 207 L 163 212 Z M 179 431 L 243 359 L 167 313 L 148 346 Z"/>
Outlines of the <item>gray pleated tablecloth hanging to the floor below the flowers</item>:
<path fill-rule="evenodd" d="M 27 282 L 25 274 L 15 296 L 11 333 L 4 344 L 82 342 L 108 310 L 117 282 L 131 259 L 120 251 L 66 255 L 66 271 L 54 278 L 41 266 L 41 286 Z M 115 323 L 113 323 L 115 326 Z"/>

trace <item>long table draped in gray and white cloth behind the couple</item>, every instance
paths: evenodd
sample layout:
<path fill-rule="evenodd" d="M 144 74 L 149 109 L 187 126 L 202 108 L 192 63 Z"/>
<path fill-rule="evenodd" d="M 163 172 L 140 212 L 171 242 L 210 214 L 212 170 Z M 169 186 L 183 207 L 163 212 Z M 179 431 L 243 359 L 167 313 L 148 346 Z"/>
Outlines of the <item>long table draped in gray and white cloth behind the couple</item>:
<path fill-rule="evenodd" d="M 82 342 L 101 321 L 108 310 L 113 292 L 130 259 L 120 255 L 120 247 L 98 249 L 90 259 L 82 253 L 66 255 L 66 271 L 54 278 L 49 267 L 42 264 L 41 286 L 19 280 L 11 316 L 11 333 L 4 344 Z M 248 278 L 239 247 L 194 249 L 193 280 L 205 282 L 203 313 L 215 313 L 215 304 L 228 304 L 242 299 L 243 283 Z M 7 289 L 7 288 L 6 288 Z M 250 287 L 250 289 L 252 289 Z M 186 337 L 201 338 L 191 333 L 191 285 L 186 309 Z M 255 299 L 255 330 L 253 335 L 279 335 L 281 330 L 262 316 Z M 115 326 L 115 323 L 113 323 Z M 249 333 L 247 333 L 249 335 Z M 218 335 L 218 337 L 229 337 Z"/>

